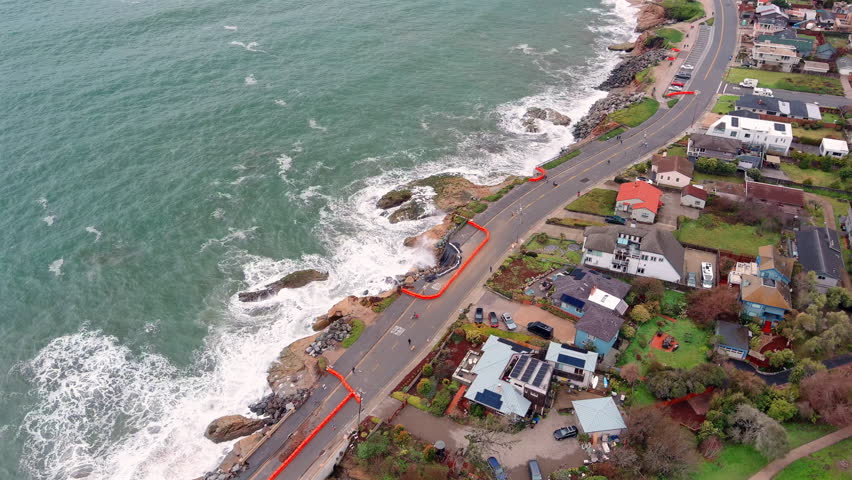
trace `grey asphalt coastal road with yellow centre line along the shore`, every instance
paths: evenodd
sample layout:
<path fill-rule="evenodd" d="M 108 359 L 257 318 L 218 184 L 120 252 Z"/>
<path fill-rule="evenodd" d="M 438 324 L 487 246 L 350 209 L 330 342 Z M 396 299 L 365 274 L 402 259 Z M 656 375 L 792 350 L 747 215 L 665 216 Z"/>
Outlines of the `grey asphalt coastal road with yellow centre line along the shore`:
<path fill-rule="evenodd" d="M 519 221 L 511 212 L 521 209 L 522 228 L 529 228 L 575 198 L 578 192 L 682 135 L 702 112 L 713 105 L 714 94 L 723 86 L 722 78 L 728 57 L 734 53 L 737 34 L 734 4 L 730 0 L 716 0 L 714 5 L 716 20 L 713 35 L 689 85 L 690 90 L 698 92 L 697 95 L 683 96 L 672 109 L 661 108 L 645 123 L 628 130 L 623 135 L 623 143 L 615 139 L 586 143 L 581 148 L 581 155 L 549 171 L 547 182 L 528 182 L 516 187 L 477 215 L 476 222 L 490 230 L 491 241 L 447 292 L 436 300 L 416 300 L 403 295 L 335 363 L 334 368 L 346 375 L 353 388 L 363 392 L 366 411 L 378 405 L 401 375 L 425 353 L 424 347 L 431 347 L 445 325 L 466 306 L 468 294 L 485 282 L 489 275 L 488 267 L 496 265 L 509 251 L 516 240 Z M 558 186 L 552 185 L 554 180 Z M 481 242 L 482 233 L 467 226 L 455 240 L 462 243 L 464 254 L 469 254 Z M 421 283 L 417 287 L 420 291 L 434 293 L 431 286 Z M 414 312 L 419 314 L 416 320 L 412 318 Z M 408 348 L 409 338 L 416 347 L 414 351 Z M 353 366 L 356 373 L 351 373 Z M 337 379 L 324 376 L 308 402 L 288 417 L 275 434 L 254 452 L 248 469 L 238 478 L 269 478 L 280 465 L 281 454 L 294 448 L 295 445 L 287 444 L 291 434 L 300 427 L 303 431 L 313 429 L 346 393 Z M 313 478 L 319 467 L 330 465 L 333 462 L 330 457 L 334 453 L 330 450 L 343 440 L 347 433 L 344 427 L 352 428 L 357 415 L 357 404 L 348 402 L 332 423 L 320 431 L 277 478 L 308 480 Z"/>

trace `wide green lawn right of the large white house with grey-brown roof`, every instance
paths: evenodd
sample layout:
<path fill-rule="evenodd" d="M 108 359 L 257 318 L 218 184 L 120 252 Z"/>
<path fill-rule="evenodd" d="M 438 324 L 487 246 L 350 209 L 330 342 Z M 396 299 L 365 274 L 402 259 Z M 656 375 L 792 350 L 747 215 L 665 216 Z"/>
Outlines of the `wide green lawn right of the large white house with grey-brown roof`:
<path fill-rule="evenodd" d="M 745 255 L 756 255 L 757 249 L 762 245 L 775 245 L 781 240 L 778 233 L 761 235 L 757 232 L 757 227 L 750 225 L 731 225 L 714 218 L 710 218 L 709 222 L 712 222 L 712 228 L 706 226 L 708 221 L 685 220 L 681 227 L 674 231 L 675 237 L 680 242 Z"/>

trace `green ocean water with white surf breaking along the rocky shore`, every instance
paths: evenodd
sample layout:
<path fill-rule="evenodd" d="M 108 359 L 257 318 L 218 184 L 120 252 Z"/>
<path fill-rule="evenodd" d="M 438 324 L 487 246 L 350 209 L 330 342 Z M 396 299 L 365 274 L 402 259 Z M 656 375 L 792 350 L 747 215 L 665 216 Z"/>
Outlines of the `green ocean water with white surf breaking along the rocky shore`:
<path fill-rule="evenodd" d="M 430 262 L 375 200 L 528 174 L 624 0 L 0 0 L 0 479 L 189 479 L 335 301 Z M 428 191 L 422 192 L 428 195 Z M 300 268 L 326 282 L 253 306 Z"/>

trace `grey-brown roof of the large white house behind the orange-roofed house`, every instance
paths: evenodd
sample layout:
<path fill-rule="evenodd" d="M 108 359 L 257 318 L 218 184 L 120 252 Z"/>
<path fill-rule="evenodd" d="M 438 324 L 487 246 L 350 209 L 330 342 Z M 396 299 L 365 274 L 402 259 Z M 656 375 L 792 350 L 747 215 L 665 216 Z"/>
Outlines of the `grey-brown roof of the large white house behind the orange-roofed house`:
<path fill-rule="evenodd" d="M 601 252 L 612 252 L 615 250 L 615 242 L 620 233 L 641 237 L 639 242 L 640 250 L 666 257 L 678 275 L 683 274 L 683 245 L 668 230 L 651 227 L 631 227 L 627 225 L 586 227 L 583 233 L 586 237 L 585 247 Z"/>

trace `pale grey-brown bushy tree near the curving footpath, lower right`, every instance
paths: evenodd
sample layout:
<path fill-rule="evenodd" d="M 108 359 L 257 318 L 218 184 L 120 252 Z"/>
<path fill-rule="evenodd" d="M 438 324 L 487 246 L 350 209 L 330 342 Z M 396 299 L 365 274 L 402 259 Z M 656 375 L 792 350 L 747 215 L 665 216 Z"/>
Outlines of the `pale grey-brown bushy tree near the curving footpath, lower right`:
<path fill-rule="evenodd" d="M 778 458 L 790 450 L 784 427 L 751 405 L 738 406 L 730 418 L 730 425 L 728 435 L 731 440 L 754 446 L 769 460 Z"/>

